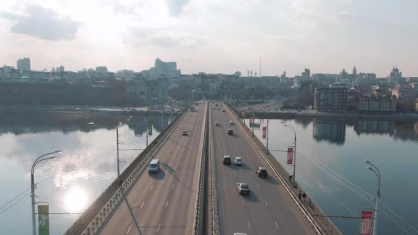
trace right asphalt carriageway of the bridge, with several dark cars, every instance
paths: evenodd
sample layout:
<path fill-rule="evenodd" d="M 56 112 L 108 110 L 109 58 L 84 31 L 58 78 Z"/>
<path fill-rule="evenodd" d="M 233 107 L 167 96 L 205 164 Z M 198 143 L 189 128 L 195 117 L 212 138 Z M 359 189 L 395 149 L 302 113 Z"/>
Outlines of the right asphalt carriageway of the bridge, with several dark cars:
<path fill-rule="evenodd" d="M 241 127 L 229 124 L 230 120 L 235 122 L 232 115 L 222 112 L 223 107 L 213 110 L 214 104 L 210 105 L 212 123 L 209 126 L 213 130 L 215 170 L 219 176 L 221 234 L 315 234 Z M 215 122 L 220 126 L 214 126 Z M 228 128 L 232 128 L 234 135 L 227 135 Z M 232 165 L 223 165 L 223 155 L 231 155 Z M 237 156 L 242 157 L 242 166 L 234 166 Z M 267 168 L 267 178 L 257 177 L 259 166 Z M 248 183 L 249 195 L 238 193 L 236 183 L 239 182 Z"/>

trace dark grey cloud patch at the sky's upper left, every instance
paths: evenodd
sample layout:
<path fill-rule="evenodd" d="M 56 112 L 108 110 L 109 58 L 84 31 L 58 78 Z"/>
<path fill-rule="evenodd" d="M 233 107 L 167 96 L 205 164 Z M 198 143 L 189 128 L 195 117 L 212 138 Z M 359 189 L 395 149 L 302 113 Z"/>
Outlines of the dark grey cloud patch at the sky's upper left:
<path fill-rule="evenodd" d="M 16 34 L 26 34 L 51 41 L 69 40 L 76 37 L 80 23 L 40 5 L 29 5 L 25 11 L 27 14 L 0 12 L 0 17 L 17 21 L 10 28 L 10 31 Z"/>

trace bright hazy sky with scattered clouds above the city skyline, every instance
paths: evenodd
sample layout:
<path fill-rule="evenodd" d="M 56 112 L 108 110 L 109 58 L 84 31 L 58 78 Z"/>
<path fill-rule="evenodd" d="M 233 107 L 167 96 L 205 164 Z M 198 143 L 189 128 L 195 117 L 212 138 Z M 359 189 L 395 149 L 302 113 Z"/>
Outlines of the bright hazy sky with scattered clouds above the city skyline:
<path fill-rule="evenodd" d="M 0 5 L 0 64 L 182 73 L 418 76 L 417 0 L 20 0 Z"/>

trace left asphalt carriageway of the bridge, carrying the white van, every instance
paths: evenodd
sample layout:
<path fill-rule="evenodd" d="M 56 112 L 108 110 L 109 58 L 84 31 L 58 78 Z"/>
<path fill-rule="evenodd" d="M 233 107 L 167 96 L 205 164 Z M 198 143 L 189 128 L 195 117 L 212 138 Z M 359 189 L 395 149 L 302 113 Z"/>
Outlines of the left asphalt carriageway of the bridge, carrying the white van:
<path fill-rule="evenodd" d="M 206 104 L 188 112 L 155 155 L 161 170 L 145 170 L 100 234 L 191 234 Z M 188 135 L 181 135 L 186 128 Z"/>

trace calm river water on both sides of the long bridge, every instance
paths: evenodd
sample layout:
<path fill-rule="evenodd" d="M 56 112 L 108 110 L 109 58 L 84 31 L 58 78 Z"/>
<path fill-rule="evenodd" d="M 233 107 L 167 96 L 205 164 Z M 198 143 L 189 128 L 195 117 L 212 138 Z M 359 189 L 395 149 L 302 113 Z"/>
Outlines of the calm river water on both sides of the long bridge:
<path fill-rule="evenodd" d="M 170 116 L 148 117 L 153 129 L 148 142 L 170 120 Z M 270 150 L 292 145 L 294 135 L 281 121 L 269 122 Z M 379 234 L 418 234 L 418 122 L 284 121 L 294 126 L 298 137 L 296 179 L 325 214 L 360 216 L 362 210 L 373 208 L 377 178 L 366 169 L 364 159 L 369 159 L 382 173 Z M 256 124 L 266 126 L 267 120 Z M 117 127 L 121 149 L 146 146 L 142 115 L 0 113 L 0 234 L 32 232 L 30 169 L 36 157 L 54 150 L 63 153 L 36 166 L 36 202 L 48 203 L 50 213 L 58 213 L 50 214 L 50 234 L 63 234 L 78 218 L 76 213 L 83 212 L 117 176 Z M 254 128 L 254 133 L 261 138 L 261 128 Z M 140 152 L 120 151 L 121 171 Z M 287 153 L 271 153 L 285 166 Z M 286 169 L 292 172 L 292 166 Z M 74 214 L 62 214 L 67 212 Z M 359 234 L 360 220 L 332 220 L 344 234 Z"/>

